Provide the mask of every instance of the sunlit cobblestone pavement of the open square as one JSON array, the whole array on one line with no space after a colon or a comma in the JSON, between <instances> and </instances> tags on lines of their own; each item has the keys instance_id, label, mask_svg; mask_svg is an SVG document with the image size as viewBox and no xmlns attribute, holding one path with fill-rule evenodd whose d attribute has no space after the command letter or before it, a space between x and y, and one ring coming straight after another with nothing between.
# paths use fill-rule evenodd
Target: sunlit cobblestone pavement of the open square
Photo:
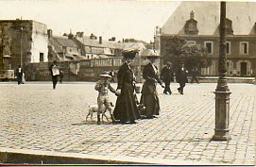
<instances>
[{"instance_id":1,"label":"sunlit cobblestone pavement of the open square","mask_svg":"<svg viewBox=\"0 0 256 167\"><path fill-rule=\"evenodd\" d=\"M96 125L96 114L85 122L88 106L96 104L94 83L60 84L56 90L50 82L0 83L0 147L255 165L256 85L229 84L230 142L210 141L215 87L187 84L184 95L177 92L177 83L171 84L172 95L159 87L159 118L136 125ZM111 101L115 99L111 93Z\"/></svg>"}]
</instances>

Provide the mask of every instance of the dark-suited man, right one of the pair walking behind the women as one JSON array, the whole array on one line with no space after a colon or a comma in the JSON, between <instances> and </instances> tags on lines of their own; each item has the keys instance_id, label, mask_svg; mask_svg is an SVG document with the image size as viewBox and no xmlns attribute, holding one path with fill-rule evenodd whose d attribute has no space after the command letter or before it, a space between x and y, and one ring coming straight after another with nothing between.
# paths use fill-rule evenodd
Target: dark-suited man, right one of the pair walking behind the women
<instances>
[{"instance_id":1,"label":"dark-suited man, right one of the pair walking behind the women","mask_svg":"<svg viewBox=\"0 0 256 167\"><path fill-rule=\"evenodd\" d=\"M184 63L179 62L179 69L176 73L176 81L179 83L179 88L177 89L180 94L183 94L183 89L186 86L186 83L188 83L188 78L187 78L187 73L186 69L184 68Z\"/></svg>"}]
</instances>

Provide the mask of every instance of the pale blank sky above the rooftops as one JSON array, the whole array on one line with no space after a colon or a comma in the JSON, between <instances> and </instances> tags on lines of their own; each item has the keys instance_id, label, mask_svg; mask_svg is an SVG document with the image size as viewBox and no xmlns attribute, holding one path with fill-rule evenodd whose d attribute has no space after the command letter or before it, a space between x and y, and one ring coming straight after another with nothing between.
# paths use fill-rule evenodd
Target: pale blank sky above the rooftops
<instances>
[{"instance_id":1,"label":"pale blank sky above the rooftops","mask_svg":"<svg viewBox=\"0 0 256 167\"><path fill-rule=\"evenodd\" d=\"M53 35L83 31L103 40L115 37L153 41L155 26L164 25L179 1L143 0L0 0L0 19L35 20Z\"/></svg>"}]
</instances>

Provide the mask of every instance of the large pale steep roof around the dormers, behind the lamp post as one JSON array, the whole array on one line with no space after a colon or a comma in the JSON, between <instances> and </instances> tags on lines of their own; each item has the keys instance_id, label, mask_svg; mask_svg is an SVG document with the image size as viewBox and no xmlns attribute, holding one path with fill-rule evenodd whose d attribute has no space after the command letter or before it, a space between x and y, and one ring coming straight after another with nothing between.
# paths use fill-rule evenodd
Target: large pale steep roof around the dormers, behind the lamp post
<instances>
[{"instance_id":1,"label":"large pale steep roof around the dormers, behind the lamp post","mask_svg":"<svg viewBox=\"0 0 256 167\"><path fill-rule=\"evenodd\" d=\"M184 25L190 19L190 12L194 11L197 21L198 35L218 36L220 21L220 2L216 1L187 1L181 2L171 17L162 26L162 35L184 35ZM226 16L232 22L233 35L256 35L255 2L227 2Z\"/></svg>"}]
</instances>

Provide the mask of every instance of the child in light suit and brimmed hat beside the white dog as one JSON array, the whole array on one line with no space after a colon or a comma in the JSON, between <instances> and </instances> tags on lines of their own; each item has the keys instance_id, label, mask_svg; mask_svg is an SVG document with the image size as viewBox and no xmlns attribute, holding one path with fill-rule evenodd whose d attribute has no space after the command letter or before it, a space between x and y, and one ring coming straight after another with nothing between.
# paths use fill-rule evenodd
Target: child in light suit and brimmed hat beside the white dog
<instances>
[{"instance_id":1,"label":"child in light suit and brimmed hat beside the white dog","mask_svg":"<svg viewBox=\"0 0 256 167\"><path fill-rule=\"evenodd\" d=\"M103 105L110 110L111 113L111 120L112 124L116 123L116 120L113 117L112 109L111 109L111 102L109 99L108 92L109 90L113 93L115 93L115 90L111 87L110 84L110 78L111 75L109 75L108 72L103 72L101 75L99 75L100 80L96 82L95 90L98 91L98 97L97 97L97 105L98 105L98 111L97 111L97 125L100 125L100 113L103 111Z\"/></svg>"}]
</instances>

